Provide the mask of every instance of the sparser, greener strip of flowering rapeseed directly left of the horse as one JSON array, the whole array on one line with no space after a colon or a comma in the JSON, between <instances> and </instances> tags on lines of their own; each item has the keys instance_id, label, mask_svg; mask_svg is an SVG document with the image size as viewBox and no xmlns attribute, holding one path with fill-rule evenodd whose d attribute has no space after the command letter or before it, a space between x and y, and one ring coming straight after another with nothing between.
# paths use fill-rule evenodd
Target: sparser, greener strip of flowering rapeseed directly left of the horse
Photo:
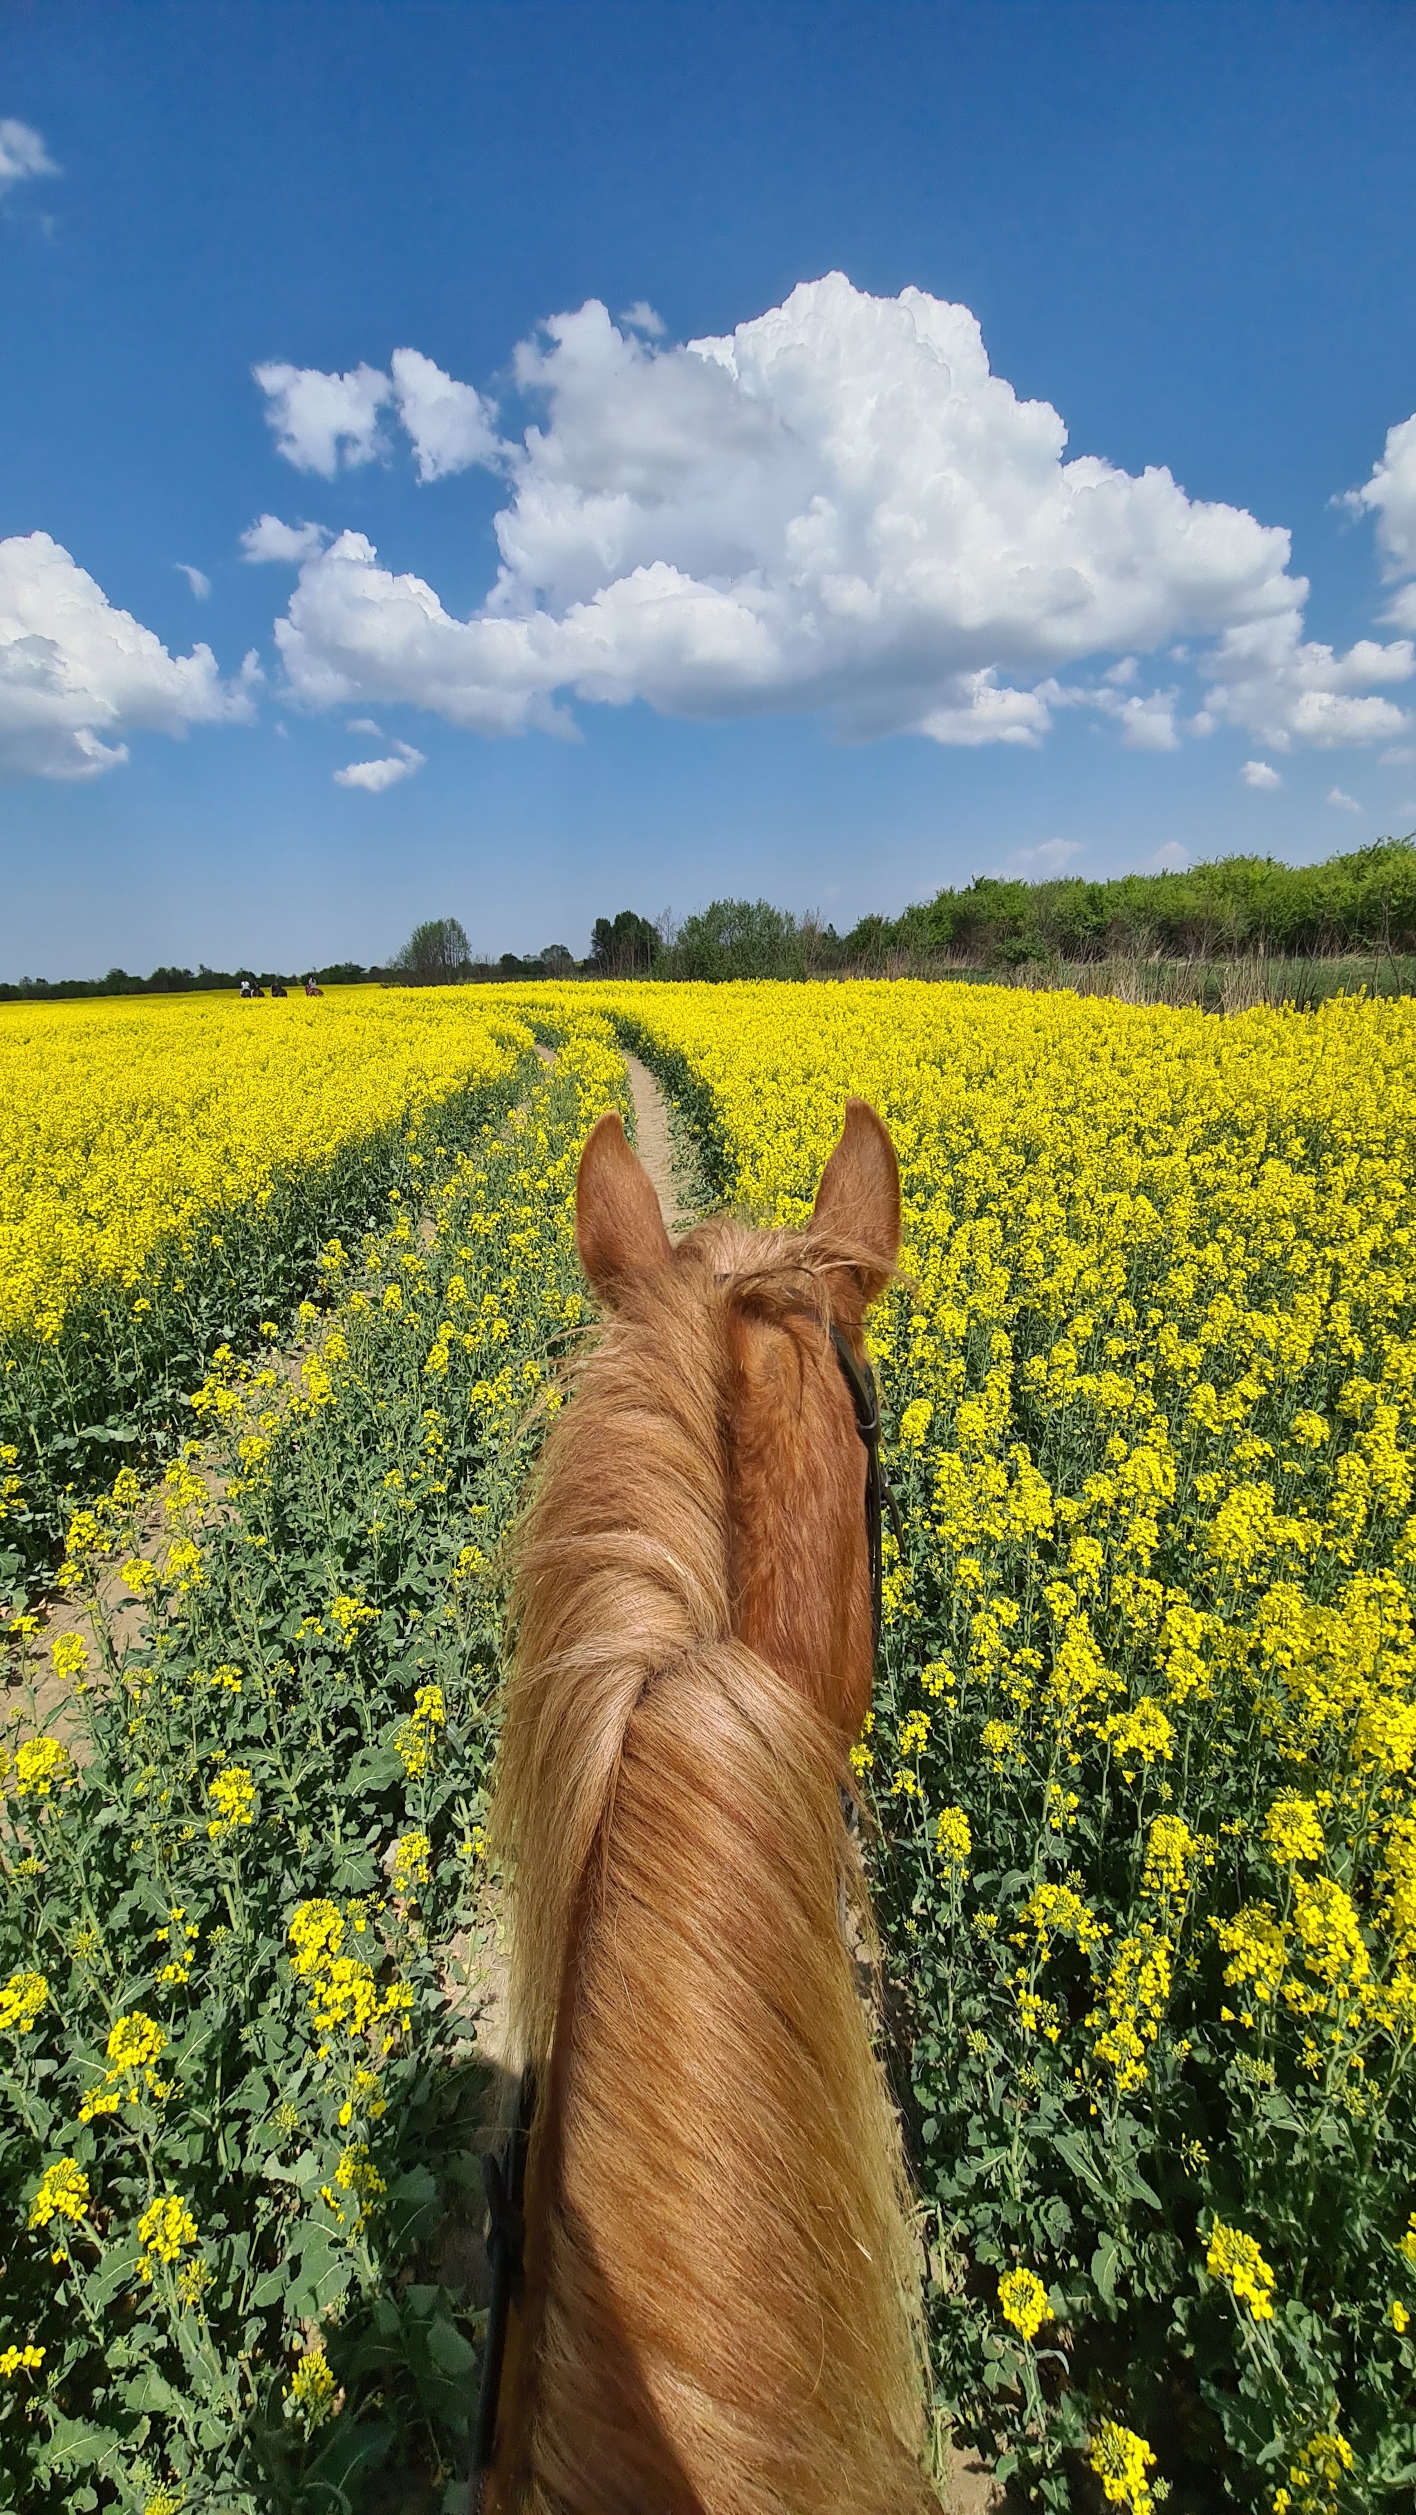
<instances>
[{"instance_id":1,"label":"sparser, greener strip of flowering rapeseed directly left of the horse","mask_svg":"<svg viewBox=\"0 0 1416 2515\"><path fill-rule=\"evenodd\" d=\"M581 1019L337 1252L299 1368L214 1361L156 1562L128 1469L68 1517L86 1685L0 1755L3 2505L465 2495L501 1539L621 1097Z\"/></svg>"}]
</instances>

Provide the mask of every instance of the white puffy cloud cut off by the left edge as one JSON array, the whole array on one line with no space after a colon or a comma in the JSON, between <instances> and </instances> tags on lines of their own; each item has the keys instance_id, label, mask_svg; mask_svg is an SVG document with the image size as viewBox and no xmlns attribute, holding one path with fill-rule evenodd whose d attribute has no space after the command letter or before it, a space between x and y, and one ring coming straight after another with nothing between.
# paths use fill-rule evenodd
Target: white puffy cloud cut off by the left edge
<instances>
[{"instance_id":1,"label":"white puffy cloud cut off by the left edge","mask_svg":"<svg viewBox=\"0 0 1416 2515\"><path fill-rule=\"evenodd\" d=\"M126 734L252 717L259 664L224 682L211 646L169 654L48 533L0 541L0 775L101 777Z\"/></svg>"}]
</instances>

